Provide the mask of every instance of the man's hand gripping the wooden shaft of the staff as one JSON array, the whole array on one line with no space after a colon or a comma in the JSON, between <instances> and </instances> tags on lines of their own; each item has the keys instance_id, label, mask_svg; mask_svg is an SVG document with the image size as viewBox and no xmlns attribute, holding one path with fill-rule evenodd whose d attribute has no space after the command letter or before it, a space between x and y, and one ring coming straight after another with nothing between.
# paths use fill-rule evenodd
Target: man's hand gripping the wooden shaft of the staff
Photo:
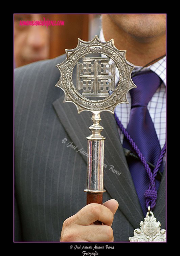
<instances>
[{"instance_id":1,"label":"man's hand gripping the wooden shaft of the staff","mask_svg":"<svg viewBox=\"0 0 180 256\"><path fill-rule=\"evenodd\" d=\"M115 199L86 205L64 221L60 242L113 242L111 225L118 206ZM96 220L103 224L94 225Z\"/></svg>"}]
</instances>

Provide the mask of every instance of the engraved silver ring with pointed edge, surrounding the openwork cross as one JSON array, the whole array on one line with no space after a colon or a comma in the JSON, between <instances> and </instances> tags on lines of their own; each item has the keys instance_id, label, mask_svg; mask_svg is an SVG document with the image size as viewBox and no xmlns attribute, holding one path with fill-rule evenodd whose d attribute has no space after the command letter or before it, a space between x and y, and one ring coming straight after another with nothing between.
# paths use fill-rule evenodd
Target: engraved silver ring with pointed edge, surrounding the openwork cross
<instances>
[{"instance_id":1,"label":"engraved silver ring with pointed edge, surrounding the openwork cross","mask_svg":"<svg viewBox=\"0 0 180 256\"><path fill-rule=\"evenodd\" d=\"M128 64L126 60L126 51L120 51L114 46L114 40L111 39L108 42L102 42L97 36L91 41L86 42L78 39L76 48L72 50L65 50L66 59L56 65L61 73L60 80L55 86L60 87L64 93L63 102L73 102L78 114L82 111L109 111L114 114L115 107L120 103L129 103L127 100L127 92L136 85L131 79L131 73L134 66ZM75 88L72 81L73 68L84 56L90 53L104 54L112 59L119 71L119 83L115 91L107 98L103 100L90 100L83 97Z\"/></svg>"}]
</instances>

